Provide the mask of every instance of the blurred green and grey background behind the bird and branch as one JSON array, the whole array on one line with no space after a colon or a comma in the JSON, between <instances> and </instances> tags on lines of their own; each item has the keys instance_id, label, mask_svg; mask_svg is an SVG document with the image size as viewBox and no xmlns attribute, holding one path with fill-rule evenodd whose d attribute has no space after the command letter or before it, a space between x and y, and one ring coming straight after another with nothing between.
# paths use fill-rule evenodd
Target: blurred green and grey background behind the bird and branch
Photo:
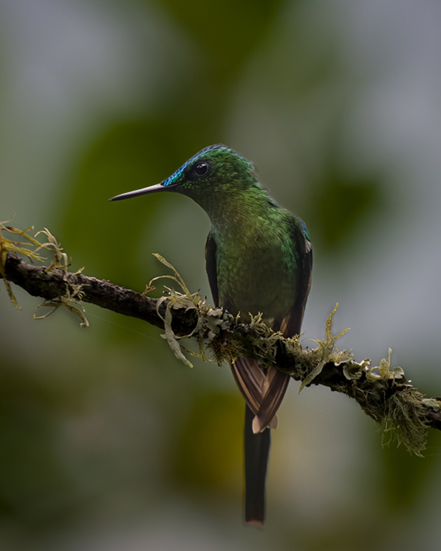
<instances>
[{"instance_id":1,"label":"blurred green and grey background behind the bird and branch","mask_svg":"<svg viewBox=\"0 0 441 551\"><path fill-rule=\"evenodd\" d=\"M441 4L423 0L1 0L0 219L47 226L72 269L209 295L203 211L163 180L226 143L308 224L305 338L439 395ZM3 287L3 285L2 285ZM241 524L243 403L228 368L87 306L35 322L0 294L3 550L413 550L439 542L441 438L424 459L355 403L292 383L267 525Z\"/></svg>"}]
</instances>

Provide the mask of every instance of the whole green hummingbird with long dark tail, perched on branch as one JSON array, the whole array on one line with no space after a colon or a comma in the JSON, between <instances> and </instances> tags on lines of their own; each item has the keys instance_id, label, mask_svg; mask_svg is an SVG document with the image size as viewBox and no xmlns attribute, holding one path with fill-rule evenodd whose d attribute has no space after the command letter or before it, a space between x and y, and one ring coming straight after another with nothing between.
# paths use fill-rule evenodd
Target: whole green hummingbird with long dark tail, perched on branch
<instances>
[{"instance_id":1,"label":"whole green hummingbird with long dark tail, perched on branch","mask_svg":"<svg viewBox=\"0 0 441 551\"><path fill-rule=\"evenodd\" d=\"M190 197L211 220L205 258L214 305L244 322L261 313L284 337L300 334L311 284L311 240L303 220L263 187L255 165L225 145L210 145L166 180L109 201L162 191ZM270 431L277 428L290 377L245 356L231 369L245 398L245 522L263 526Z\"/></svg>"}]
</instances>

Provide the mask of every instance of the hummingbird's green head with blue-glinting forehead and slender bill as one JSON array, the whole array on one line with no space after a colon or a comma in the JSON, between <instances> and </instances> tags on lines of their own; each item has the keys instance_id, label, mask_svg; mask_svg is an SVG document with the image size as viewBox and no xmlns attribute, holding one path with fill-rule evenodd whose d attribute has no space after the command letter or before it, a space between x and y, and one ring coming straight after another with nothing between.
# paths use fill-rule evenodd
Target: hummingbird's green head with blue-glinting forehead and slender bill
<instances>
[{"instance_id":1,"label":"hummingbird's green head with blue-glinting forehead and slender bill","mask_svg":"<svg viewBox=\"0 0 441 551\"><path fill-rule=\"evenodd\" d=\"M166 180L154 186L122 193L109 201L120 201L159 191L174 191L191 197L207 210L208 203L260 188L254 164L226 145L210 145L193 155Z\"/></svg>"}]
</instances>

